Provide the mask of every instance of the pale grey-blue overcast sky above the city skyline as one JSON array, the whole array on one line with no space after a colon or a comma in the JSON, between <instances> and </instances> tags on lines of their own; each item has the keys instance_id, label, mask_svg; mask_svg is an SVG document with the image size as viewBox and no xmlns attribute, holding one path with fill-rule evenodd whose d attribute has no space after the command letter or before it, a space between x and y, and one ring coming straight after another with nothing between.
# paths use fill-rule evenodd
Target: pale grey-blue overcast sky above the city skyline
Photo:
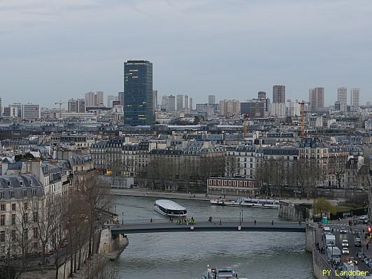
<instances>
[{"instance_id":1,"label":"pale grey-blue overcast sky above the city skyline","mask_svg":"<svg viewBox=\"0 0 372 279\"><path fill-rule=\"evenodd\" d=\"M272 98L273 84L305 100L324 86L326 105L360 88L365 103L371 15L371 0L0 0L0 97L55 107L101 90L106 103L123 61L146 59L159 96L194 104Z\"/></svg>"}]
</instances>

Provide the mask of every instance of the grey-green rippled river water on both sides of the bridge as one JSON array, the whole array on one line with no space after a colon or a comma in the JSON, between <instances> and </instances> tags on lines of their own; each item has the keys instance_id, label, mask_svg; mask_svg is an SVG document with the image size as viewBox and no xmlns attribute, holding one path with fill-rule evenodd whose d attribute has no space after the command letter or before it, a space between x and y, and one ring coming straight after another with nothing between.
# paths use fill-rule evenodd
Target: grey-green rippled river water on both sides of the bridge
<instances>
[{"instance_id":1,"label":"grey-green rippled river water on both sides of the bridge","mask_svg":"<svg viewBox=\"0 0 372 279\"><path fill-rule=\"evenodd\" d=\"M162 218L152 210L155 198L115 197L121 220ZM172 199L191 217L239 217L240 208ZM115 209L114 209L115 210ZM124 213L124 214L123 214ZM277 218L275 209L243 209L244 217ZM231 267L243 278L313 279L305 234L266 232L179 232L129 234L129 246L111 262L121 279L200 279L207 265Z\"/></svg>"}]
</instances>

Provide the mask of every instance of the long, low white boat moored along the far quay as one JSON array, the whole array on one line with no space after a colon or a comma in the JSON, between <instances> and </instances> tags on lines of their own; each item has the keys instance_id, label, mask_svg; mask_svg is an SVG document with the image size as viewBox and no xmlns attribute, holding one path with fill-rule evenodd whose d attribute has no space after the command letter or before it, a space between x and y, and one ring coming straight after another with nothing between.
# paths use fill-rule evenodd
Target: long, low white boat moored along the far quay
<instances>
[{"instance_id":1,"label":"long, low white boat moored along the far quay","mask_svg":"<svg viewBox=\"0 0 372 279\"><path fill-rule=\"evenodd\" d=\"M223 206L259 207L262 209L279 209L279 201L276 199L255 199L250 197L238 197L236 199L210 199L210 204Z\"/></svg>"}]
</instances>

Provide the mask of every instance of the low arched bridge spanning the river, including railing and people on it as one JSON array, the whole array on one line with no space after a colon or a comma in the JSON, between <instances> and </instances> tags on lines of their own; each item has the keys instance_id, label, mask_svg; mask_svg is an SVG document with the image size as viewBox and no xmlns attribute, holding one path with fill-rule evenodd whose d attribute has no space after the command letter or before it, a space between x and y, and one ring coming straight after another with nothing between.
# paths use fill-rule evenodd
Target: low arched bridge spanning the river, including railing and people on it
<instances>
[{"instance_id":1,"label":"low arched bridge spanning the river, including railing and people on it","mask_svg":"<svg viewBox=\"0 0 372 279\"><path fill-rule=\"evenodd\" d=\"M306 232L306 223L272 218L193 218L188 222L173 219L121 220L110 225L111 234L152 232Z\"/></svg>"}]
</instances>

